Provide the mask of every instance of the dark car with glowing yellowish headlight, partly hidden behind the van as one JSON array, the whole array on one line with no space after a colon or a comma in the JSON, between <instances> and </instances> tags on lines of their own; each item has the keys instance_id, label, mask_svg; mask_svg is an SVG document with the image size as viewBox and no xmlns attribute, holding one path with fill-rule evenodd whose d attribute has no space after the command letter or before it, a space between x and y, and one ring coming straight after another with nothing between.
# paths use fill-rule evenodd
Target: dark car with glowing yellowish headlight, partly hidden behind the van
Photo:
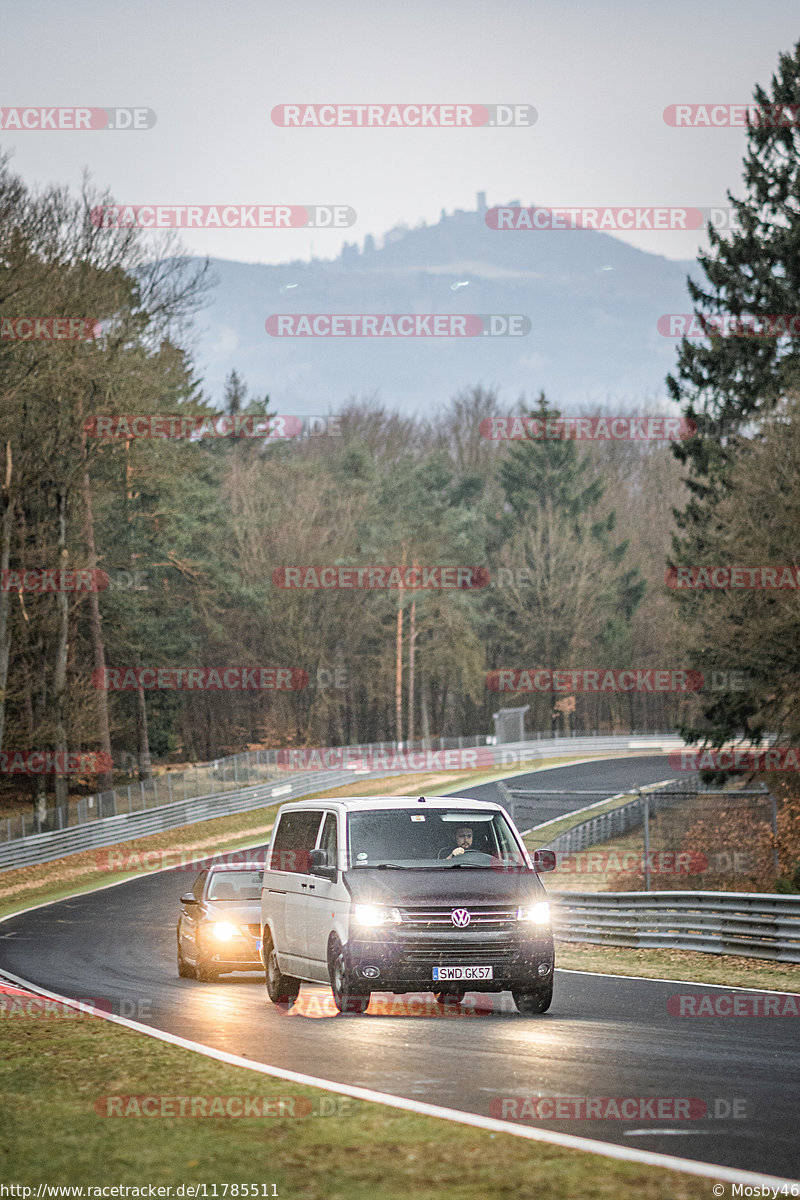
<instances>
[{"instance_id":1,"label":"dark car with glowing yellowish headlight, partly hidden behind the van","mask_svg":"<svg viewBox=\"0 0 800 1200\"><path fill-rule=\"evenodd\" d=\"M178 973L213 983L231 971L264 971L259 958L260 866L212 865L181 896Z\"/></svg>"}]
</instances>

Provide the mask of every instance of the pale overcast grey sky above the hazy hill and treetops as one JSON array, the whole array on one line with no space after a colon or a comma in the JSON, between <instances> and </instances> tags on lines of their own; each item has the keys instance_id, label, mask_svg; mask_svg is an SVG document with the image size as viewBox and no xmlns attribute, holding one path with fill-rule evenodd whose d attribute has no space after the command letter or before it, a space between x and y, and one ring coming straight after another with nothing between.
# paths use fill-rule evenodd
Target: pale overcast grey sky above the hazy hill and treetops
<instances>
[{"instance_id":1,"label":"pale overcast grey sky above the hazy hill and treetops","mask_svg":"<svg viewBox=\"0 0 800 1200\"><path fill-rule=\"evenodd\" d=\"M738 103L800 37L796 0L25 0L1 6L2 106L139 106L139 132L0 133L29 184L84 167L132 204L348 204L349 230L192 230L242 262L519 199L724 204L745 131L674 128L672 103ZM276 104L528 103L529 128L281 128ZM619 234L691 258L702 232Z\"/></svg>"}]
</instances>

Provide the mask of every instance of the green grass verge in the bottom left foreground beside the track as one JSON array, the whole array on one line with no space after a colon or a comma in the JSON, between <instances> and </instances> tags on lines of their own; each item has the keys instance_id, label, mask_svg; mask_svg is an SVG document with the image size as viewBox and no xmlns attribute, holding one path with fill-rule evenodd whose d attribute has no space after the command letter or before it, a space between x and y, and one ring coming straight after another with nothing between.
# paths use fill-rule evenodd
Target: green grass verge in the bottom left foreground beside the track
<instances>
[{"instance_id":1,"label":"green grass verge in the bottom left foreground beside the track","mask_svg":"<svg viewBox=\"0 0 800 1200\"><path fill-rule=\"evenodd\" d=\"M281 1200L710 1194L704 1178L345 1100L94 1018L7 1018L0 1060L2 1174L26 1186L275 1183ZM104 1117L95 1103L108 1096L258 1096L273 1111L300 1097L312 1115ZM337 1115L314 1115L323 1098Z\"/></svg>"}]
</instances>

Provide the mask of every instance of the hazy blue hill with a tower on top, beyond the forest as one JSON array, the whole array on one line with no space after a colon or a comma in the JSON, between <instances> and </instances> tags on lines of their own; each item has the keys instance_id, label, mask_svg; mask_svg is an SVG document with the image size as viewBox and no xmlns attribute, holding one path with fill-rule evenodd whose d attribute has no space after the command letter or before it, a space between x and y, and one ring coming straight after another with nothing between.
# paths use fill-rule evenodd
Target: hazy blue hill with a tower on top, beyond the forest
<instances>
[{"instance_id":1,"label":"hazy blue hill with a tower on top, beyond the forest","mask_svg":"<svg viewBox=\"0 0 800 1200\"><path fill-rule=\"evenodd\" d=\"M383 246L367 239L335 260L213 268L213 302L197 322L206 390L218 398L236 367L273 408L299 414L373 394L423 410L476 383L509 403L540 388L566 408L654 402L676 348L656 322L691 311L686 275L698 270L591 230L495 232L479 210L443 211L435 226L392 229ZM533 328L477 338L278 338L264 328L273 313L336 312L524 313Z\"/></svg>"}]
</instances>

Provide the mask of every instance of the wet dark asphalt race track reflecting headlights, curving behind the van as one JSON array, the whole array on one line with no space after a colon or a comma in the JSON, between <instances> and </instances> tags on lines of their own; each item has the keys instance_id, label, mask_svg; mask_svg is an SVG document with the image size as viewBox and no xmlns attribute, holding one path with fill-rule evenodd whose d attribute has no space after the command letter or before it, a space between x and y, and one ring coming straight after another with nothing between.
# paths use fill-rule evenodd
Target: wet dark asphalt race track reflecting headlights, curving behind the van
<instances>
[{"instance_id":1,"label":"wet dark asphalt race track reflecting headlights, curving behind the van","mask_svg":"<svg viewBox=\"0 0 800 1200\"><path fill-rule=\"evenodd\" d=\"M669 775L667 758L652 756L563 767L518 776L513 786L601 787L610 796ZM499 799L494 785L467 793ZM572 806L591 802L576 798ZM521 828L535 823L521 808L517 817ZM640 1150L800 1175L796 1018L676 1016L670 996L718 990L564 971L553 1007L537 1018L519 1016L505 994L476 997L463 1016L427 1015L432 997L392 1015L403 997L390 995L373 997L363 1016L330 1015L330 991L311 986L287 1015L269 1003L260 977L178 978L178 898L192 878L186 871L138 877L11 918L0 925L0 970L62 995L110 1001L114 1013L144 1025L289 1070L485 1116L518 1115L523 1123ZM679 1106L661 1120L645 1110L636 1120L539 1121L503 1110L507 1097L697 1098L706 1115L694 1116L702 1105L693 1105L690 1118Z\"/></svg>"}]
</instances>

